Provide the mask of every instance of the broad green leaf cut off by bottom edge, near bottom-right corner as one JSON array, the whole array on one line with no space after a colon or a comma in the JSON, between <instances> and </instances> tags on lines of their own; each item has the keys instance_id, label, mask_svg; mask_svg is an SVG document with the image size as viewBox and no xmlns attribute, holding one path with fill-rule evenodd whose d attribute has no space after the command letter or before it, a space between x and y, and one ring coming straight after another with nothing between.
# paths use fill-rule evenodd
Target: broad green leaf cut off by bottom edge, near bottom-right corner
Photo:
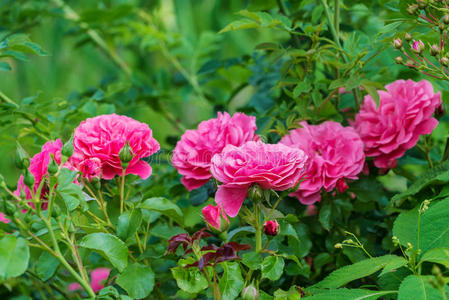
<instances>
[{"instance_id":1,"label":"broad green leaf cut off by bottom edge, near bottom-right corner","mask_svg":"<svg viewBox=\"0 0 449 300\"><path fill-rule=\"evenodd\" d=\"M433 276L410 275L399 286L398 300L442 299L441 291L432 287L429 279ZM446 295L448 295L446 291Z\"/></svg>"}]
</instances>

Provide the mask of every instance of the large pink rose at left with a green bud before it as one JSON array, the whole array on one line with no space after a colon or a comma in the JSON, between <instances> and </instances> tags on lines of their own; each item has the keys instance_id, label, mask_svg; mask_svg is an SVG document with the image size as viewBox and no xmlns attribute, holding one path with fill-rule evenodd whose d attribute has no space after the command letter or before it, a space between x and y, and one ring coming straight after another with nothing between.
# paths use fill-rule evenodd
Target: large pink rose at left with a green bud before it
<instances>
[{"instance_id":1,"label":"large pink rose at left with a green bud before it","mask_svg":"<svg viewBox=\"0 0 449 300\"><path fill-rule=\"evenodd\" d=\"M151 167L141 159L156 153L159 150L159 143L153 138L147 124L116 114L101 115L81 122L75 129L73 138L72 164L84 170L88 165L88 174L83 175L88 177L93 172L96 176L97 160L100 160L103 179L121 176L119 152L126 142L129 142L135 155L126 168L126 174L139 175L142 179L148 178L151 175ZM83 164L83 167L80 168L80 164ZM92 171L91 167L95 170Z\"/></svg>"}]
</instances>

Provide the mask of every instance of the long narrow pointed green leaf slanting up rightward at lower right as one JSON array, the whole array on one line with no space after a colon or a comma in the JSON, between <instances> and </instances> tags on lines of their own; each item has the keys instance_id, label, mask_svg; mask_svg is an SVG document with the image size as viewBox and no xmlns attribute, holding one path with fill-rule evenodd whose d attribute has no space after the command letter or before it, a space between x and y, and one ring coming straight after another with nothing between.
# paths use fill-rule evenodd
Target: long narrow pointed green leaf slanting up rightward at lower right
<instances>
[{"instance_id":1,"label":"long narrow pointed green leaf slanting up rightward at lower right","mask_svg":"<svg viewBox=\"0 0 449 300\"><path fill-rule=\"evenodd\" d=\"M389 264L398 265L404 258L396 255L385 255L375 258L365 259L355 264L344 266L331 274L322 281L315 284L316 288L338 288L353 280L360 279L383 269Z\"/></svg>"}]
</instances>

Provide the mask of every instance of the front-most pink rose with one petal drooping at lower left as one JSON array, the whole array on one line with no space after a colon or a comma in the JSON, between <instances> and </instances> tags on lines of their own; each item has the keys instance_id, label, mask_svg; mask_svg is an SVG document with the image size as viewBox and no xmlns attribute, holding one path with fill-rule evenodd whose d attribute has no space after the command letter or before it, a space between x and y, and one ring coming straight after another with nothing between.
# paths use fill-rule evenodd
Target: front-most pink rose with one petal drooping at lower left
<instances>
[{"instance_id":1,"label":"front-most pink rose with one petal drooping at lower left","mask_svg":"<svg viewBox=\"0 0 449 300\"><path fill-rule=\"evenodd\" d=\"M223 183L215 201L227 215L235 217L252 184L277 191L293 188L304 173L306 161L304 151L282 144L251 141L240 147L227 145L212 158L212 175Z\"/></svg>"}]
</instances>

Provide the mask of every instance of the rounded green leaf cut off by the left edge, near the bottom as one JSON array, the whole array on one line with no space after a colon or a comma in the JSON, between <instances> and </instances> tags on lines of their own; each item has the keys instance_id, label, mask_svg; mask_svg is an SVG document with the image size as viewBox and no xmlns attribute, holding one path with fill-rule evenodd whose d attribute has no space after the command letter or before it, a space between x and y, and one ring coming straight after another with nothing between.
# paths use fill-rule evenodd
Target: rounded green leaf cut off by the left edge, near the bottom
<instances>
[{"instance_id":1,"label":"rounded green leaf cut off by the left edge, near the bottom","mask_svg":"<svg viewBox=\"0 0 449 300\"><path fill-rule=\"evenodd\" d=\"M0 239L0 279L22 275L28 268L30 249L25 239L7 235Z\"/></svg>"}]
</instances>

